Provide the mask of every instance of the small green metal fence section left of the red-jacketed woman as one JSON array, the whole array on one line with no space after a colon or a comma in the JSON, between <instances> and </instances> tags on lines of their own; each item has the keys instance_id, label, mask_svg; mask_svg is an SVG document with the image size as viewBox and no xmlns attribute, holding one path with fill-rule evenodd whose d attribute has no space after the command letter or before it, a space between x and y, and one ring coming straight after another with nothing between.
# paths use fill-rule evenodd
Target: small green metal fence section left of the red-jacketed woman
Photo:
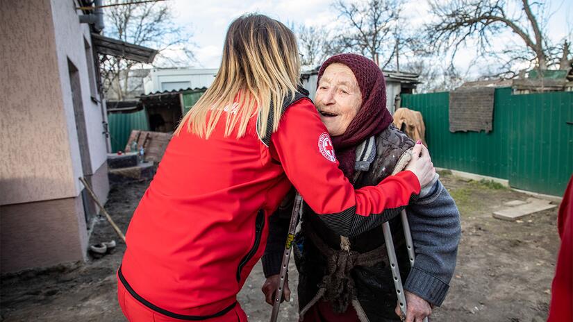
<instances>
[{"instance_id":1,"label":"small green metal fence section left of the red-jacketed woman","mask_svg":"<svg viewBox=\"0 0 573 322\"><path fill-rule=\"evenodd\" d=\"M145 109L133 113L108 114L112 152L124 151L131 130L149 130Z\"/></svg>"}]
</instances>

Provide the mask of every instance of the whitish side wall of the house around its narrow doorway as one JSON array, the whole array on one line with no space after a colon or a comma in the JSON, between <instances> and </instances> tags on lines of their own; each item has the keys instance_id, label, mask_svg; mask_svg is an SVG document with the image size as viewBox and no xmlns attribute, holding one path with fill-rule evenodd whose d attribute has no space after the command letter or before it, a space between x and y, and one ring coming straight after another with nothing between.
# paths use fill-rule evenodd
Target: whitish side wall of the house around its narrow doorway
<instances>
[{"instance_id":1,"label":"whitish side wall of the house around its narrow doorway","mask_svg":"<svg viewBox=\"0 0 573 322\"><path fill-rule=\"evenodd\" d=\"M94 103L90 97L90 74L88 62L85 56L84 37L91 42L88 24L79 23L80 10L76 1L51 0L53 26L56 34L56 55L58 57L58 71L62 83L63 105L66 116L69 146L74 173L74 185L76 195L81 191L81 183L77 180L83 176L81 158L78 146L78 133L76 131L76 119L74 105L72 103L72 89L69 85L69 59L78 69L80 76L81 95L85 126L88 135L90 162L92 169L86 169L88 174L94 173L106 162L106 137L103 135L103 115L101 104Z\"/></svg>"}]
</instances>

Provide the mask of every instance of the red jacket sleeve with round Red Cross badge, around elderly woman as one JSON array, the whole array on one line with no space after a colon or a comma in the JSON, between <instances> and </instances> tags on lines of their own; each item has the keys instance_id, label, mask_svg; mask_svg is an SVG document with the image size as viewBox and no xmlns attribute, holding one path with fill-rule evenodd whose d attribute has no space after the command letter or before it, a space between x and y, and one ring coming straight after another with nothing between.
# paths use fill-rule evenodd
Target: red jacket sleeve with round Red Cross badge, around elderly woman
<instances>
[{"instance_id":1,"label":"red jacket sleeve with round Red Cross badge, around elderly woman","mask_svg":"<svg viewBox=\"0 0 573 322\"><path fill-rule=\"evenodd\" d=\"M420 182L410 171L354 190L338 169L331 138L315 106L306 99L286 110L271 142L290 182L340 235L354 236L379 226L420 193Z\"/></svg>"}]
</instances>

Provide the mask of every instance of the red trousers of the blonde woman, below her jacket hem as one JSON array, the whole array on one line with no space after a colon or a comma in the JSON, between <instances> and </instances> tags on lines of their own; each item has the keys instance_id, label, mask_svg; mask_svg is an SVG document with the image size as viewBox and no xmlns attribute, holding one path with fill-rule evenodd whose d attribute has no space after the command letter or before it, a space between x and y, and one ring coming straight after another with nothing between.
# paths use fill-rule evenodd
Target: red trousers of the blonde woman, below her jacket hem
<instances>
[{"instance_id":1,"label":"red trousers of the blonde woman, below her jacket hem","mask_svg":"<svg viewBox=\"0 0 573 322\"><path fill-rule=\"evenodd\" d=\"M122 307L124 316L130 322L181 322L183 320L174 319L159 312L151 310L149 307L140 303L129 294L122 282L117 281L117 300ZM247 322L247 314L241 309L239 303L233 310L223 316L217 316L213 319L204 320L205 322Z\"/></svg>"}]
</instances>

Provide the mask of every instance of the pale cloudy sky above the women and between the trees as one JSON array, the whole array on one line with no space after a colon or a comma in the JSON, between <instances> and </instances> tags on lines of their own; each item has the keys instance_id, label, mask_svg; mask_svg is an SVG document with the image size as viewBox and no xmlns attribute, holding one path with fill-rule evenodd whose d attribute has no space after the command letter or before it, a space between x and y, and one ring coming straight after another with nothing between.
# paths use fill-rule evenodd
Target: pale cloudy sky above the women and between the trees
<instances>
[{"instance_id":1,"label":"pale cloudy sky above the women and between the trees","mask_svg":"<svg viewBox=\"0 0 573 322\"><path fill-rule=\"evenodd\" d=\"M192 48L197 60L194 67L219 67L224 35L233 19L247 13L259 12L290 26L291 24L306 24L307 26L333 27L337 24L338 12L331 6L333 0L290 0L290 1L259 1L259 0L168 0L174 9L175 22L193 33ZM511 1L511 0L509 0ZM572 31L573 1L547 1L547 11L550 14L547 31L554 40L560 40ZM408 24L413 28L421 28L424 20L428 19L429 5L426 1L406 1L404 14ZM506 33L495 40L495 44L504 44L516 39ZM516 39L517 40L517 39ZM517 40L519 41L519 40ZM454 60L454 65L476 74L482 66L476 65L473 58L475 49L462 49ZM486 62L481 62L485 64Z\"/></svg>"}]
</instances>

